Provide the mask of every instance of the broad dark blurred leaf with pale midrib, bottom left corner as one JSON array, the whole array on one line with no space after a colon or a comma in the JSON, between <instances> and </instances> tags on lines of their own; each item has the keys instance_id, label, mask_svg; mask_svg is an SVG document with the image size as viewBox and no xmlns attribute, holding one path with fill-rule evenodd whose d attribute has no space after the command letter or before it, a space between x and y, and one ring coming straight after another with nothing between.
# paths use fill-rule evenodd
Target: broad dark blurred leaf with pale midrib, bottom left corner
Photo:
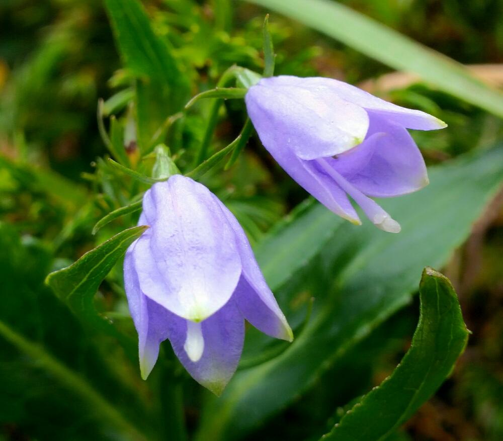
<instances>
[{"instance_id":1,"label":"broad dark blurred leaf with pale midrib, bottom left corner","mask_svg":"<svg viewBox=\"0 0 503 441\"><path fill-rule=\"evenodd\" d=\"M136 342L130 365L116 339L80 326L44 286L54 261L42 241L0 222L0 249L0 378L8 380L0 381L0 425L30 427L37 439L75 441L153 433L155 418L138 395L144 385L133 387L121 373L137 377Z\"/></svg>"}]
</instances>

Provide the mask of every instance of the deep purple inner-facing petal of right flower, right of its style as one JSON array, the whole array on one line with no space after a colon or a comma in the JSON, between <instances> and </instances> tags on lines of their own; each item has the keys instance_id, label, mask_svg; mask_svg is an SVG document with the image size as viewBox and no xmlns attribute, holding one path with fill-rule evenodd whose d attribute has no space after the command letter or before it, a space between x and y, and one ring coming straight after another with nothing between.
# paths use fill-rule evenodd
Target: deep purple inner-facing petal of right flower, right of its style
<instances>
[{"instance_id":1,"label":"deep purple inner-facing petal of right flower, right of its style","mask_svg":"<svg viewBox=\"0 0 503 441\"><path fill-rule=\"evenodd\" d=\"M428 184L425 161L407 130L377 116L362 144L326 160L368 196L399 196Z\"/></svg>"}]
</instances>

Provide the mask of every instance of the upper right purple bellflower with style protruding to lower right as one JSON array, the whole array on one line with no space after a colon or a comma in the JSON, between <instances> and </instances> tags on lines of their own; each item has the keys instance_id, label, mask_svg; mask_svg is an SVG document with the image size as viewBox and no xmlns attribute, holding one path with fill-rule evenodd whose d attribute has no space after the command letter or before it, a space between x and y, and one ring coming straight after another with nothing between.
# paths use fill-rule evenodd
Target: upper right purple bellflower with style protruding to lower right
<instances>
[{"instance_id":1,"label":"upper right purple bellflower with style protruding to lower right","mask_svg":"<svg viewBox=\"0 0 503 441\"><path fill-rule=\"evenodd\" d=\"M245 102L262 143L299 185L359 225L350 196L377 227L393 233L400 225L370 197L426 186L425 162L407 129L446 127L331 78L263 78Z\"/></svg>"}]
</instances>

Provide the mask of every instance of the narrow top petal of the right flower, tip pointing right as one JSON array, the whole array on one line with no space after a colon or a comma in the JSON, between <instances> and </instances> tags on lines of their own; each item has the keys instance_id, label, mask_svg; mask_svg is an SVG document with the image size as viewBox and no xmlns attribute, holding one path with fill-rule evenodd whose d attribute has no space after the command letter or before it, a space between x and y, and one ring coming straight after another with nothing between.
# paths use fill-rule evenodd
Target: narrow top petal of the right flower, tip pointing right
<instances>
[{"instance_id":1,"label":"narrow top petal of the right flower, tip pointing right","mask_svg":"<svg viewBox=\"0 0 503 441\"><path fill-rule=\"evenodd\" d=\"M408 129L436 130L447 125L434 116L420 110L407 109L381 100L358 87L333 78L296 76L278 76L276 84L290 87L305 87L306 89L330 90L340 99L356 104L368 111L378 113L389 121L400 124ZM321 155L320 155L321 156Z\"/></svg>"}]
</instances>

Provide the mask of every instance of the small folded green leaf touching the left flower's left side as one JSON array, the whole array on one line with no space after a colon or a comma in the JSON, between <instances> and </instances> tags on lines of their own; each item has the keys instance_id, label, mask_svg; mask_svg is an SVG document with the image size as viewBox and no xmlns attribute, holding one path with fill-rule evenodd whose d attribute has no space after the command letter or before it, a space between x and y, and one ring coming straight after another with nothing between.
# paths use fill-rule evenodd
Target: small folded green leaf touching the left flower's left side
<instances>
[{"instance_id":1,"label":"small folded green leaf touching the left flower's left side","mask_svg":"<svg viewBox=\"0 0 503 441\"><path fill-rule=\"evenodd\" d=\"M101 282L128 246L147 228L133 227L116 234L69 267L49 274L45 283L77 316L96 321L93 298Z\"/></svg>"}]
</instances>

